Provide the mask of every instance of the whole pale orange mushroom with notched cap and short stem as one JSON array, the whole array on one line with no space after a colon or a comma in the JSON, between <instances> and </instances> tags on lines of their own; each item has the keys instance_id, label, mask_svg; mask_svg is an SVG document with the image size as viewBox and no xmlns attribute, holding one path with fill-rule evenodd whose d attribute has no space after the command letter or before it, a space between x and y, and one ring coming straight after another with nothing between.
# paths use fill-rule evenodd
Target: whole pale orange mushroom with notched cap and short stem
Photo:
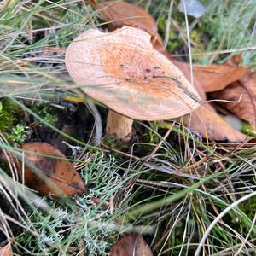
<instances>
[{"instance_id":1,"label":"whole pale orange mushroom with notched cap and short stem","mask_svg":"<svg viewBox=\"0 0 256 256\"><path fill-rule=\"evenodd\" d=\"M84 93L107 105L108 135L128 141L132 120L180 117L200 105L183 73L153 49L150 35L131 26L89 29L69 44L68 73Z\"/></svg>"}]
</instances>

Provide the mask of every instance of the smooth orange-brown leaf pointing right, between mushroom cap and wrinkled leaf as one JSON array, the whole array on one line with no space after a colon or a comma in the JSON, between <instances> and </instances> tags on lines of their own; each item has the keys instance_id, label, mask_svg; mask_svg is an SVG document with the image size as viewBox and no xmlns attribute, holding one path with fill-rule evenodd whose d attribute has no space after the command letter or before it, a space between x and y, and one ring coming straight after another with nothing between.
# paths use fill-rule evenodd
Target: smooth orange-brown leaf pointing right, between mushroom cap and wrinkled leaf
<instances>
[{"instance_id":1,"label":"smooth orange-brown leaf pointing right, between mushroom cap and wrinkled leaf","mask_svg":"<svg viewBox=\"0 0 256 256\"><path fill-rule=\"evenodd\" d=\"M245 67L232 67L230 62L223 65L194 65L194 77L200 80L205 92L223 90L230 83L241 79L247 72Z\"/></svg>"}]
</instances>

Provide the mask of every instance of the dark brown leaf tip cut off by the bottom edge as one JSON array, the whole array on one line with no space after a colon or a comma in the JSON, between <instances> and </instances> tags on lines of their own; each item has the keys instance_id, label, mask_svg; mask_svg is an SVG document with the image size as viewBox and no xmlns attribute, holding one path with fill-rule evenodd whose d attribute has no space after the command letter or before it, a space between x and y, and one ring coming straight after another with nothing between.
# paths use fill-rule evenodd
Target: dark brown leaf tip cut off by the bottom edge
<instances>
[{"instance_id":1,"label":"dark brown leaf tip cut off by the bottom edge","mask_svg":"<svg viewBox=\"0 0 256 256\"><path fill-rule=\"evenodd\" d=\"M121 237L111 247L109 256L153 256L153 253L141 235Z\"/></svg>"}]
</instances>

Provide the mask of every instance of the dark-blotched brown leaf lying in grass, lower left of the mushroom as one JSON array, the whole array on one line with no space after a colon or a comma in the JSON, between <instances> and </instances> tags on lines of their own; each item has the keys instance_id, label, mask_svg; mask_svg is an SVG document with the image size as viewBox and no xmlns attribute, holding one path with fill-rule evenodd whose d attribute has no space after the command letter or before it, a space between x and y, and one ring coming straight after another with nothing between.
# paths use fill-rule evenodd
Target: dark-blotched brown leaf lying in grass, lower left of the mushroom
<instances>
[{"instance_id":1,"label":"dark-blotched brown leaf lying in grass, lower left of the mushroom","mask_svg":"<svg viewBox=\"0 0 256 256\"><path fill-rule=\"evenodd\" d=\"M74 195L84 193L84 183L73 165L66 160L44 157L38 154L47 154L58 158L65 158L64 154L48 143L26 143L23 150L36 154L24 154L24 176L28 187L37 190L43 195ZM2 160L7 164L2 156ZM20 177L22 177L22 163L18 162ZM41 174L38 173L41 171Z\"/></svg>"}]
</instances>

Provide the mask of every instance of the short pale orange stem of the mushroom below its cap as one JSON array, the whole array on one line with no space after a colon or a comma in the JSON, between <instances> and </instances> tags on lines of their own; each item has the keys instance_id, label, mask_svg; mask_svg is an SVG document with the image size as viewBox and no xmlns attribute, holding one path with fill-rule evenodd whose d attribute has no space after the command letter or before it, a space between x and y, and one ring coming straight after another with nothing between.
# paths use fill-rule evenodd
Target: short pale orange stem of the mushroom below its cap
<instances>
[{"instance_id":1,"label":"short pale orange stem of the mushroom below its cap","mask_svg":"<svg viewBox=\"0 0 256 256\"><path fill-rule=\"evenodd\" d=\"M131 139L133 120L113 110L108 111L107 134L118 137L120 142Z\"/></svg>"}]
</instances>

